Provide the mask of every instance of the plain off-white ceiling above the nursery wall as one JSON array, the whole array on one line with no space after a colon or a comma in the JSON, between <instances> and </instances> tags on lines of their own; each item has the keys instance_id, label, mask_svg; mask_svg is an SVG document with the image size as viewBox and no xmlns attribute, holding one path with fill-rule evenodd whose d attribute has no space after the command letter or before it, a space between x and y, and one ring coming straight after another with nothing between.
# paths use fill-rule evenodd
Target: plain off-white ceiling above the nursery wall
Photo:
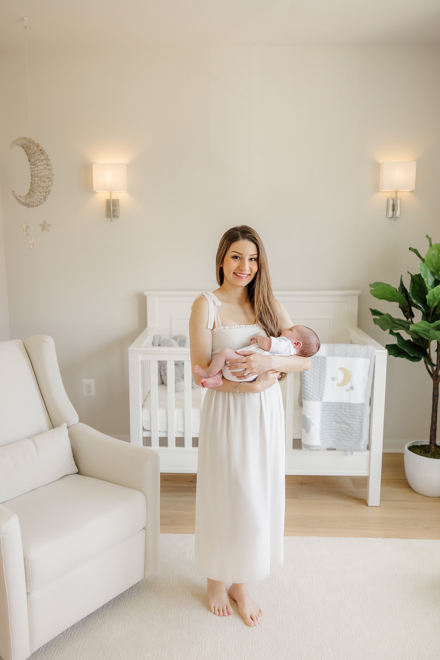
<instances>
[{"instance_id":1,"label":"plain off-white ceiling above the nursery wall","mask_svg":"<svg viewBox=\"0 0 440 660\"><path fill-rule=\"evenodd\" d=\"M26 7L26 10L24 10ZM0 0L0 48L437 44L440 0Z\"/></svg>"}]
</instances>

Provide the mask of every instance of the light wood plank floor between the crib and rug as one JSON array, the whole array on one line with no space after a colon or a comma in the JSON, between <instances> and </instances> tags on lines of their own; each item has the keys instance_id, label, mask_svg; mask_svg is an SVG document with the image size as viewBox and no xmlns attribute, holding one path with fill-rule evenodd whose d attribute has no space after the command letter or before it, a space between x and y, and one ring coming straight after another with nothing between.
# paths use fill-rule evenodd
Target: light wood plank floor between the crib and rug
<instances>
[{"instance_id":1,"label":"light wood plank floor between the crib and rug","mask_svg":"<svg viewBox=\"0 0 440 660\"><path fill-rule=\"evenodd\" d=\"M367 477L286 476L286 536L440 539L440 498L410 488L402 453L384 453L380 506ZM162 474L160 531L193 534L196 475Z\"/></svg>"}]
</instances>

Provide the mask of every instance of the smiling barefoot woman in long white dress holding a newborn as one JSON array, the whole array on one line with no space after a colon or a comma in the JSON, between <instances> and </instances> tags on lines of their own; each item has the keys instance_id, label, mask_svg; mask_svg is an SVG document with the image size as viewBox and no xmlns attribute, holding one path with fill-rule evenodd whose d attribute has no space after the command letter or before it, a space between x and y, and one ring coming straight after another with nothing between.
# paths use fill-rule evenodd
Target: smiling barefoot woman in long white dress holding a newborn
<instances>
[{"instance_id":1,"label":"smiling barefoot woman in long white dress holding a newborn","mask_svg":"<svg viewBox=\"0 0 440 660\"><path fill-rule=\"evenodd\" d=\"M206 368L221 348L249 345L258 331L278 337L293 325L274 298L266 251L251 227L233 227L222 236L216 277L219 288L193 303L193 367ZM195 564L208 579L213 614L232 614L230 597L245 623L258 626L263 611L251 599L247 582L266 578L271 562L284 563L284 408L278 378L308 370L310 358L245 351L228 368L239 379L258 376L238 385L222 378L222 385L206 391L197 460ZM197 374L194 380L199 385ZM228 591L226 582L232 582Z\"/></svg>"}]
</instances>

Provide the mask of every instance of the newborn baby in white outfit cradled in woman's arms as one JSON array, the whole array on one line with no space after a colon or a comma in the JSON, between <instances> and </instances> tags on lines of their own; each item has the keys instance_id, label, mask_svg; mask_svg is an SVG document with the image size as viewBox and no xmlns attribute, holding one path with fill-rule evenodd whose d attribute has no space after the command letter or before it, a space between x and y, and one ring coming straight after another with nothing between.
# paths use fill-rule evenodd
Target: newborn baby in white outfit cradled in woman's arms
<instances>
[{"instance_id":1,"label":"newborn baby in white outfit cradled in woman's arms","mask_svg":"<svg viewBox=\"0 0 440 660\"><path fill-rule=\"evenodd\" d=\"M262 333L252 335L249 346L239 348L238 350L250 350L263 355L301 355L306 358L315 355L319 350L320 343L318 335L305 325L292 325L291 328L285 328L280 337L266 337ZM201 376L201 387L218 387L222 384L222 374L228 380L234 380L239 383L247 383L255 380L257 374L249 378L239 378L232 374L224 365L226 360L235 360L243 356L232 348L222 348L207 369L202 369L195 364L193 372ZM236 365L236 371L239 371L239 365Z\"/></svg>"}]
</instances>

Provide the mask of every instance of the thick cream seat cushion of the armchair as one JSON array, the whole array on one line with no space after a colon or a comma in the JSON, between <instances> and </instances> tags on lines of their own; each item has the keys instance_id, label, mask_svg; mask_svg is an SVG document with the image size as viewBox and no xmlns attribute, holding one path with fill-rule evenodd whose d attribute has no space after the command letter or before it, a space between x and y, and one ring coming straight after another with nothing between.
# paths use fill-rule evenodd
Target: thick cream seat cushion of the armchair
<instances>
[{"instance_id":1,"label":"thick cream seat cushion of the armchair","mask_svg":"<svg viewBox=\"0 0 440 660\"><path fill-rule=\"evenodd\" d=\"M20 521L28 593L146 524L141 491L78 474L30 490L5 506Z\"/></svg>"}]
</instances>

